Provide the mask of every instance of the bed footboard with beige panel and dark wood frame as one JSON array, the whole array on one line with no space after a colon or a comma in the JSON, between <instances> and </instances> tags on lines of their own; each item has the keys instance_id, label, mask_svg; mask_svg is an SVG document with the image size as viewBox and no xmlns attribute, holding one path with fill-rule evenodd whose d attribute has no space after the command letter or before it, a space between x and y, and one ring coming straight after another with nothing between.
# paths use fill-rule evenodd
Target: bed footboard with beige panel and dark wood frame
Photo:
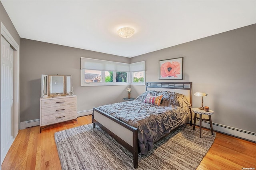
<instances>
[{"instance_id":1,"label":"bed footboard with beige panel and dark wood frame","mask_svg":"<svg viewBox=\"0 0 256 170\"><path fill-rule=\"evenodd\" d=\"M97 124L102 130L108 133L119 144L124 146L133 154L133 166L138 168L138 129L126 124L113 116L93 108L93 128Z\"/></svg>"}]
</instances>

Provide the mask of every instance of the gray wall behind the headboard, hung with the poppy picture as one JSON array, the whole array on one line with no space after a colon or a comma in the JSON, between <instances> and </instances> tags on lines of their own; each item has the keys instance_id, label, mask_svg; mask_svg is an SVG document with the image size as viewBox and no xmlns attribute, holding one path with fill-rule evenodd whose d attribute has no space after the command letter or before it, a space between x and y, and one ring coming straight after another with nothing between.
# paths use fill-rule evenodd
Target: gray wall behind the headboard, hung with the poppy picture
<instances>
[{"instance_id":1,"label":"gray wall behind the headboard, hung with the poppy picture","mask_svg":"<svg viewBox=\"0 0 256 170\"><path fill-rule=\"evenodd\" d=\"M184 80L205 92L212 121L256 132L256 24L131 58L146 60L146 81L158 80L158 61L184 56ZM174 80L170 80L174 81ZM178 80L179 81L179 80ZM138 96L145 86L132 86ZM193 107L201 98L193 96Z\"/></svg>"}]
</instances>

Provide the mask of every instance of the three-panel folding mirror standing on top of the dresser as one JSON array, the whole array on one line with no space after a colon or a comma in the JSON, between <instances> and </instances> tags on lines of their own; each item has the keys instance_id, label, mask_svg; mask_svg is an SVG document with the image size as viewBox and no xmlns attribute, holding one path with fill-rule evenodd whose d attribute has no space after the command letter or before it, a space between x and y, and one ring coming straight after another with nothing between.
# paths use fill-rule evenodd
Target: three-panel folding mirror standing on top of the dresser
<instances>
[{"instance_id":1,"label":"three-panel folding mirror standing on top of the dresser","mask_svg":"<svg viewBox=\"0 0 256 170\"><path fill-rule=\"evenodd\" d=\"M41 97L66 96L72 91L72 76L41 75Z\"/></svg>"}]
</instances>

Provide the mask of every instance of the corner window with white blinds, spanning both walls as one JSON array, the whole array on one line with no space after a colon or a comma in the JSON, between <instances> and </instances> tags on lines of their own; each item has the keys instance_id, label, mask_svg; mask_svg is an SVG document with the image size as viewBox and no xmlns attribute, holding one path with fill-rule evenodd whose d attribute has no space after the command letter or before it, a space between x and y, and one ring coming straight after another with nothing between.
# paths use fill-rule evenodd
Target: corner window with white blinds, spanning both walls
<instances>
[{"instance_id":1,"label":"corner window with white blinds, spanning both walls","mask_svg":"<svg viewBox=\"0 0 256 170\"><path fill-rule=\"evenodd\" d=\"M81 57L81 86L145 85L144 70L145 61L127 64Z\"/></svg>"}]
</instances>

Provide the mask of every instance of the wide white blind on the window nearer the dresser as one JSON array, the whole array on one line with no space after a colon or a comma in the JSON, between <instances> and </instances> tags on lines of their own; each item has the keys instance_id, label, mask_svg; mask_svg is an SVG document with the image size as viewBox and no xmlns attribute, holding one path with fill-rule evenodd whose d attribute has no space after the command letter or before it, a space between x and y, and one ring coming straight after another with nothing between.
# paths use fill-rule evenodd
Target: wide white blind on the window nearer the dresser
<instances>
[{"instance_id":1,"label":"wide white blind on the window nearer the dresser","mask_svg":"<svg viewBox=\"0 0 256 170\"><path fill-rule=\"evenodd\" d=\"M81 69L129 72L130 64L81 57Z\"/></svg>"}]
</instances>

